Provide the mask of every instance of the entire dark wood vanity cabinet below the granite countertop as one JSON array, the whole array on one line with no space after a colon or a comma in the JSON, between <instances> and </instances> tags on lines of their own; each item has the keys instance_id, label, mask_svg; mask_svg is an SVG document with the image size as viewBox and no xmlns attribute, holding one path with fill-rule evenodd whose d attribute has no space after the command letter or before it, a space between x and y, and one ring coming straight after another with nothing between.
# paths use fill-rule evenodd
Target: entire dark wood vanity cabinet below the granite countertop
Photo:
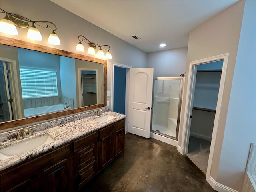
<instances>
[{"instance_id":1,"label":"entire dark wood vanity cabinet below the granite countertop","mask_svg":"<svg viewBox=\"0 0 256 192\"><path fill-rule=\"evenodd\" d=\"M72 192L124 154L125 119L0 173L1 192Z\"/></svg>"}]
</instances>

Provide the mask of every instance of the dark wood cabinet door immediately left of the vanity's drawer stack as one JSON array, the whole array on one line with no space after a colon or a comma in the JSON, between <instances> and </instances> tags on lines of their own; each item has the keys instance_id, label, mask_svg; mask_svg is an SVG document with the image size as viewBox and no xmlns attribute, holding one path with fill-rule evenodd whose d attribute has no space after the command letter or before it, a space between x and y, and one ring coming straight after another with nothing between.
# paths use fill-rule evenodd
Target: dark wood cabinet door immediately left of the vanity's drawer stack
<instances>
[{"instance_id":1,"label":"dark wood cabinet door immediately left of the vanity's drawer stack","mask_svg":"<svg viewBox=\"0 0 256 192\"><path fill-rule=\"evenodd\" d=\"M69 157L38 174L39 191L71 192L73 181L71 165L72 159Z\"/></svg>"}]
</instances>

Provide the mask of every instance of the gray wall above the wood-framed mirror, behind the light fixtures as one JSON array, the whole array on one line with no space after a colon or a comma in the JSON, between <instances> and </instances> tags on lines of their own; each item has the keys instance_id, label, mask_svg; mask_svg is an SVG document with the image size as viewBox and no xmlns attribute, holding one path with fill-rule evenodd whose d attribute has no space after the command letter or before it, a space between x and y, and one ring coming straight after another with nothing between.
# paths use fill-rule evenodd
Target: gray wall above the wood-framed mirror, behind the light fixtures
<instances>
[{"instance_id":1,"label":"gray wall above the wood-framed mirror, behind the light fixtures","mask_svg":"<svg viewBox=\"0 0 256 192\"><path fill-rule=\"evenodd\" d=\"M49 29L38 27L42 34L42 41L32 41L26 37L27 30L18 28L18 36L1 34L11 38L34 42L36 44L54 47L69 52L75 52L78 43L78 35L83 35L90 41L97 44L108 44L111 48L112 59L108 60L107 67L107 89L111 90L111 62L124 65L130 65L133 68L143 68L147 64L147 54L121 40L120 38L106 32L105 30L95 26L94 24L76 16L75 14L65 10L64 8L54 4L49 0L34 1L12 1L1 0L1 8L7 12L20 14L30 20L46 20L53 22L57 26L56 34L60 38L60 46L48 44L48 36L51 33ZM95 8L97 10L97 8ZM86 8L85 8L86 10ZM3 17L4 14L1 14ZM84 46L86 49L86 46ZM87 55L87 53L83 53ZM91 55L88 55L91 56ZM110 96L107 97L110 101ZM110 101L111 102L111 101ZM111 103L110 103L111 106Z\"/></svg>"}]
</instances>

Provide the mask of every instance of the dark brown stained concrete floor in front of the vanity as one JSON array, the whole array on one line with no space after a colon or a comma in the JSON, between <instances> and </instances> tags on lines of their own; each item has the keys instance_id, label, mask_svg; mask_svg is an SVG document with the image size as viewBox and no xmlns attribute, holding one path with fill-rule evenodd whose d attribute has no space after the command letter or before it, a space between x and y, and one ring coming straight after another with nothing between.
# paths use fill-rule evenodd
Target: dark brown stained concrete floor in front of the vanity
<instances>
[{"instance_id":1,"label":"dark brown stained concrete floor in front of the vanity","mask_svg":"<svg viewBox=\"0 0 256 192\"><path fill-rule=\"evenodd\" d=\"M176 147L129 133L125 139L124 155L79 192L215 192Z\"/></svg>"}]
</instances>

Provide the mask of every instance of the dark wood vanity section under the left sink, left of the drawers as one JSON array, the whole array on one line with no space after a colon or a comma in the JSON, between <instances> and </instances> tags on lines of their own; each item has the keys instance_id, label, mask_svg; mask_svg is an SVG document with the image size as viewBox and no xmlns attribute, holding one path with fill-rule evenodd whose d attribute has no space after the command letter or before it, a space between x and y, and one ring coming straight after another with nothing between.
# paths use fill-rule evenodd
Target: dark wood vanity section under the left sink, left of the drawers
<instances>
[{"instance_id":1,"label":"dark wood vanity section under the left sink, left of the drawers","mask_svg":"<svg viewBox=\"0 0 256 192\"><path fill-rule=\"evenodd\" d=\"M70 145L1 171L0 191L72 191Z\"/></svg>"}]
</instances>

